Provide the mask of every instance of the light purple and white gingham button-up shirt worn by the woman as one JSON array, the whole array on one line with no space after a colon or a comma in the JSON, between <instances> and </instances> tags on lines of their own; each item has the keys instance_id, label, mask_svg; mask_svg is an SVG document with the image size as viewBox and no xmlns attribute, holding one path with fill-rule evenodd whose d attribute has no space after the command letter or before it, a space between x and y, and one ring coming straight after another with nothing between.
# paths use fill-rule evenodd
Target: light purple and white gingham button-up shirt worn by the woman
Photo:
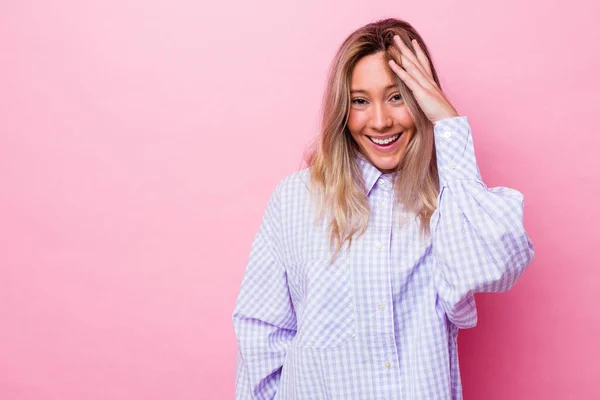
<instances>
[{"instance_id":1,"label":"light purple and white gingham button-up shirt worn by the woman","mask_svg":"<svg viewBox=\"0 0 600 400\"><path fill-rule=\"evenodd\" d=\"M284 178L254 237L233 312L236 399L461 399L459 328L474 292L509 290L533 259L523 195L481 180L467 117L438 121L431 236L359 156L371 217L328 263L308 169ZM397 221L404 219L403 227Z\"/></svg>"}]
</instances>

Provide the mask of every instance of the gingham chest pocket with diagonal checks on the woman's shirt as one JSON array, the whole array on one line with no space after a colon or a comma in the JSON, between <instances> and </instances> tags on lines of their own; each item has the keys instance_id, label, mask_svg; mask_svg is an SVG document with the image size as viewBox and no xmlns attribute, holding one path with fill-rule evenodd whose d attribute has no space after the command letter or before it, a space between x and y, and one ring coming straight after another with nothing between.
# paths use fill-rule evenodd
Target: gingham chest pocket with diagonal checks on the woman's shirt
<instances>
[{"instance_id":1,"label":"gingham chest pocket with diagonal checks on the woman's shirt","mask_svg":"<svg viewBox=\"0 0 600 400\"><path fill-rule=\"evenodd\" d=\"M333 262L307 260L291 268L292 296L296 297L299 347L340 347L356 336L356 317L349 277L349 259Z\"/></svg>"}]
</instances>

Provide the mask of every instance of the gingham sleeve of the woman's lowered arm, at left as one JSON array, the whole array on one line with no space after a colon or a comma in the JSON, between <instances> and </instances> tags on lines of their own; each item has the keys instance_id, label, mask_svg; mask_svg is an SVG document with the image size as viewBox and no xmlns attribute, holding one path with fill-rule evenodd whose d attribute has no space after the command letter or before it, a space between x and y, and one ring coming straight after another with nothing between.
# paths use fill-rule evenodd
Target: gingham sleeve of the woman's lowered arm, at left
<instances>
[{"instance_id":1,"label":"gingham sleeve of the woman's lowered arm, at left","mask_svg":"<svg viewBox=\"0 0 600 400\"><path fill-rule=\"evenodd\" d=\"M238 342L237 400L275 397L286 351L296 334L280 250L280 223L276 189L254 237L232 316Z\"/></svg>"}]
</instances>

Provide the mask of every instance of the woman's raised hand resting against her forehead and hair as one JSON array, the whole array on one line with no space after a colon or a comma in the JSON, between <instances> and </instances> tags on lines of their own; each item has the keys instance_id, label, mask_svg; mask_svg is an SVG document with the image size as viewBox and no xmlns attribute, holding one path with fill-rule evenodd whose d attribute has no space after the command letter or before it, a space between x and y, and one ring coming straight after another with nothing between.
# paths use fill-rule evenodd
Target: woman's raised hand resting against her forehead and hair
<instances>
[{"instance_id":1,"label":"woman's raised hand resting against her forehead and hair","mask_svg":"<svg viewBox=\"0 0 600 400\"><path fill-rule=\"evenodd\" d=\"M427 118L435 124L444 118L457 117L458 112L435 83L429 60L417 41L412 41L416 55L404 44L400 36L394 36L394 42L400 49L400 65L390 60L390 68L412 90L415 100Z\"/></svg>"}]
</instances>

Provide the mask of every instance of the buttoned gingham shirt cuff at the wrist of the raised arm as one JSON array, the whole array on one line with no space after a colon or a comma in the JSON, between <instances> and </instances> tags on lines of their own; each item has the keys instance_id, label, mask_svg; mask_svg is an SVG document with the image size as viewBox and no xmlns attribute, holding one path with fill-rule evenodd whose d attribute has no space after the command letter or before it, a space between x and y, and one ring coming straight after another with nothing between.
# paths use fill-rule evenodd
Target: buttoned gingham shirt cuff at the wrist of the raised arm
<instances>
[{"instance_id":1,"label":"buttoned gingham shirt cuff at the wrist of the raised arm","mask_svg":"<svg viewBox=\"0 0 600 400\"><path fill-rule=\"evenodd\" d=\"M457 180L482 181L466 116L436 121L433 135L440 185Z\"/></svg>"}]
</instances>

